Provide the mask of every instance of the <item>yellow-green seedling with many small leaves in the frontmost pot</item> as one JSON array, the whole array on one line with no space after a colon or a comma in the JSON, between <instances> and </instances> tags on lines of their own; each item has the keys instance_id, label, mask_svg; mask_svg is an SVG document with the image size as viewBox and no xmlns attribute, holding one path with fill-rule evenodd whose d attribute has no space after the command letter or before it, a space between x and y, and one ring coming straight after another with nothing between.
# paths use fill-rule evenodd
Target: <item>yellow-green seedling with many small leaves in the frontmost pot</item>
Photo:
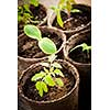
<instances>
[{"instance_id":1,"label":"yellow-green seedling with many small leaves in the frontmost pot","mask_svg":"<svg viewBox=\"0 0 110 110\"><path fill-rule=\"evenodd\" d=\"M36 73L31 78L31 81L35 82L35 88L41 97L43 97L44 92L48 92L48 87L61 88L64 86L62 66L57 62L54 62L55 58L55 54L48 56L48 62L41 63L44 66L43 70Z\"/></svg>"}]
</instances>

